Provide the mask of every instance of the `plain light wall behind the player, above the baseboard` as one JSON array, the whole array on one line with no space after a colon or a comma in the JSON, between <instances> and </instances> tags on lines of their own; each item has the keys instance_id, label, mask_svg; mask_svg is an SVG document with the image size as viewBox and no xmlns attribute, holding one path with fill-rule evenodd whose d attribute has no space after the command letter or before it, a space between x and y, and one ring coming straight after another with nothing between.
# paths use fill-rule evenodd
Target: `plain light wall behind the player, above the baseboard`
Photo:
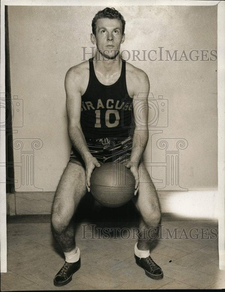
<instances>
[{"instance_id":1,"label":"plain light wall behind the player, above the baseboard","mask_svg":"<svg viewBox=\"0 0 225 292\"><path fill-rule=\"evenodd\" d=\"M11 95L23 101L23 117L13 121L14 139L24 148L14 149L17 191L54 192L64 170L70 142L67 134L64 78L67 70L83 60L83 49L91 52L91 21L98 6L9 6ZM165 186L165 149L157 140L185 139L179 150L180 187L188 190L217 188L217 62L210 51L217 50L217 6L121 6L126 20L121 50L131 53L128 62L143 69L155 98L168 100L168 127L150 129L151 139L144 159L161 166L148 167L157 188ZM159 61L160 49L162 59ZM133 50L151 53L152 59L133 60ZM165 61L166 51L198 50L198 61ZM200 50L208 50L207 57ZM215 54L215 52L213 52ZM127 52L124 58L128 59ZM212 60L201 61L211 57ZM86 55L86 59L90 55ZM173 58L174 59L174 58ZM21 104L21 103L20 103ZM21 110L19 112L21 114ZM23 124L21 125L21 119ZM20 127L21 126L21 127ZM154 131L153 131L154 130ZM157 133L157 131L159 133ZM43 147L30 149L31 140ZM170 139L170 140L168 140ZM38 140L40 142L40 140ZM40 143L42 143L40 142ZM185 142L186 143L186 142ZM26 145L25 145L26 144ZM151 147L152 144L152 147ZM29 148L34 157L34 185L20 188L21 153ZM36 147L38 148L38 147ZM176 149L175 149L176 150ZM33 151L33 152L32 152ZM176 150L177 151L177 150ZM150 164L149 164L150 165ZM169 195L169 193L168 193ZM186 194L187 195L187 194Z\"/></svg>"}]
</instances>

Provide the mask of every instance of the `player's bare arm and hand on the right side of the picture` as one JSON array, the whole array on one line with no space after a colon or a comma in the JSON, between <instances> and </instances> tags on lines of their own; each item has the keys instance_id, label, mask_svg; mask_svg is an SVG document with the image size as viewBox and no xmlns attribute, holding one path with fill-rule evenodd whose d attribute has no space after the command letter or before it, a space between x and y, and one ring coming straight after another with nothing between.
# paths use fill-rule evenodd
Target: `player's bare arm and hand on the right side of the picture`
<instances>
[{"instance_id":1,"label":"player's bare arm and hand on the right side of the picture","mask_svg":"<svg viewBox=\"0 0 225 292\"><path fill-rule=\"evenodd\" d=\"M147 122L148 122L148 94L150 90L150 85L147 74L141 71L140 74L138 75L138 78L136 79L136 82L133 84L136 85L136 87L133 90L133 115L135 129L133 135L133 149L131 152L130 162L126 164L126 166L131 169L136 179L135 185L136 191L134 193L136 195L139 187L138 164L148 142Z\"/></svg>"}]
</instances>

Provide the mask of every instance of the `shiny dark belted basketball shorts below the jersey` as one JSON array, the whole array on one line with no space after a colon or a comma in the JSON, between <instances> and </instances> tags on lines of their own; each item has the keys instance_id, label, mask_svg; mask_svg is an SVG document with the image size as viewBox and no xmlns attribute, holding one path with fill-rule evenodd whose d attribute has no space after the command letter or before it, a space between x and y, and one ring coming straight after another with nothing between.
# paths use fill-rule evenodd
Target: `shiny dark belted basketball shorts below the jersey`
<instances>
[{"instance_id":1,"label":"shiny dark belted basketball shorts below the jersey","mask_svg":"<svg viewBox=\"0 0 225 292\"><path fill-rule=\"evenodd\" d=\"M87 147L92 156L95 157L100 164L106 162L117 162L124 164L130 160L133 139L128 138L86 138ZM81 155L75 150L71 149L69 162L79 164L85 168L85 163Z\"/></svg>"}]
</instances>

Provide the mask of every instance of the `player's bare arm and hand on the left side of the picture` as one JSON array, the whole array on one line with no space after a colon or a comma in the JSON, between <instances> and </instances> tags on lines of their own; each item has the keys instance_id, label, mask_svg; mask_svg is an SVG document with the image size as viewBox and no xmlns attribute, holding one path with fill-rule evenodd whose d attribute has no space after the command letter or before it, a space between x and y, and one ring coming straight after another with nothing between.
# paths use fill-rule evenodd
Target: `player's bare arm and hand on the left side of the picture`
<instances>
[{"instance_id":1,"label":"player's bare arm and hand on the left side of the picture","mask_svg":"<svg viewBox=\"0 0 225 292\"><path fill-rule=\"evenodd\" d=\"M90 191L90 177L99 162L90 153L80 126L81 112L81 82L82 76L75 69L69 69L65 78L66 112L68 119L68 134L72 145L80 153L86 167L87 189Z\"/></svg>"}]
</instances>

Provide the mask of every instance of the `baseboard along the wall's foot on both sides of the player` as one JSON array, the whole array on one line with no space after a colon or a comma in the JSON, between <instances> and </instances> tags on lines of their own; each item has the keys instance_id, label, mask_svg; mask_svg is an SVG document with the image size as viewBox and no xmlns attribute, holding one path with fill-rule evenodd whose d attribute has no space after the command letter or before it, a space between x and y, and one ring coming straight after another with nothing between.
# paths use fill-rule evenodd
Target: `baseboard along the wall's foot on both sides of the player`
<instances>
[{"instance_id":1,"label":"baseboard along the wall's foot on both sides of the player","mask_svg":"<svg viewBox=\"0 0 225 292\"><path fill-rule=\"evenodd\" d=\"M7 215L50 214L55 192L15 192L6 195ZM182 217L219 217L217 190L159 192L162 213Z\"/></svg>"}]
</instances>

